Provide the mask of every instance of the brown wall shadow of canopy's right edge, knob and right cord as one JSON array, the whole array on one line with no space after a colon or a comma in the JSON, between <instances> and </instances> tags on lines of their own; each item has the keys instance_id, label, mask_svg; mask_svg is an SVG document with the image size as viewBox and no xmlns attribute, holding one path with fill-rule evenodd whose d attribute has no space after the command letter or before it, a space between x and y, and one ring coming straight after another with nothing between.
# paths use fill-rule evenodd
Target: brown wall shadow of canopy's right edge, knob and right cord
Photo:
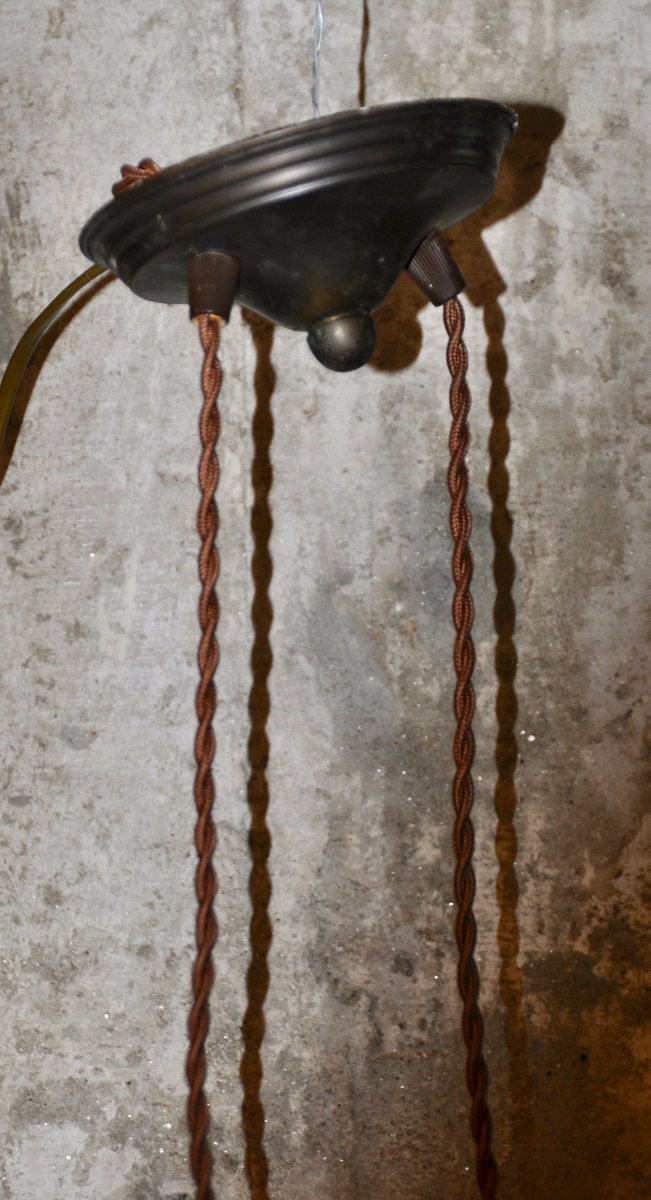
<instances>
[{"instance_id":1,"label":"brown wall shadow of canopy's right edge, knob and right cord","mask_svg":"<svg viewBox=\"0 0 651 1200\"><path fill-rule=\"evenodd\" d=\"M515 1146L518 1195L531 1195L532 1164L537 1156L533 1120L533 1088L528 1064L527 1030L522 1012L522 974L518 964L520 934L518 925L519 884L515 871L518 835L515 817L518 792L518 652L515 646L515 559L512 552L513 517L508 508L510 445L508 355L504 344L506 317L501 295L507 290L494 263L483 233L497 221L528 204L540 190L554 142L562 132L565 119L556 109L542 104L508 102L519 115L518 133L504 151L495 191L490 199L470 217L446 233L446 240L466 277L466 295L482 308L486 331L486 368L490 379L488 491L491 502L490 528L494 544L492 610L495 673L497 692L495 710L496 814L495 853L497 858L496 894L498 905L497 947L500 954L500 995L504 1013L504 1039L508 1055L512 1141ZM420 352L422 329L418 314L429 301L413 281L402 275L386 304L376 313L378 344L371 366L378 371L401 371Z\"/></svg>"}]
</instances>

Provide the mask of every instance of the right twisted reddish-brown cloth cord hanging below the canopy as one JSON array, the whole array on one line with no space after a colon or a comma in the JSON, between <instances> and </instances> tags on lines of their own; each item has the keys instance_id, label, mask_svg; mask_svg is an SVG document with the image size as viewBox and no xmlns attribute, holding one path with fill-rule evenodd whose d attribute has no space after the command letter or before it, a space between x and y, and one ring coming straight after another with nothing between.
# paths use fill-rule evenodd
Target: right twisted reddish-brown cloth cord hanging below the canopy
<instances>
[{"instance_id":1,"label":"right twisted reddish-brown cloth cord hanging below the canopy","mask_svg":"<svg viewBox=\"0 0 651 1200\"><path fill-rule=\"evenodd\" d=\"M474 900L474 870L472 865L474 830L471 810L474 799L474 788L471 768L474 756L474 737L472 732L472 718L474 714L474 691L472 688L474 646L472 643L471 629L474 607L470 592L472 580L472 554L470 550L472 518L466 504L468 474L465 461L470 444L468 412L471 395L466 383L468 354L462 337L464 308L459 300L454 299L446 302L443 306L443 320L449 338L447 359L452 376L448 488L452 502L450 529L454 539L452 574L455 587L453 618L456 630L454 643L454 668L456 671L454 715L456 718L456 732L454 737L455 775L453 802L455 821L453 844L456 854L454 894L456 900L455 935L459 947L458 982L464 1002L461 1028L466 1044L466 1084L471 1096L470 1123L477 1147L477 1182L482 1200L494 1200L497 1168L490 1147L490 1116L486 1106L488 1072L482 1052L484 1026L478 1006L479 972L474 961L477 925L472 911Z\"/></svg>"}]
</instances>

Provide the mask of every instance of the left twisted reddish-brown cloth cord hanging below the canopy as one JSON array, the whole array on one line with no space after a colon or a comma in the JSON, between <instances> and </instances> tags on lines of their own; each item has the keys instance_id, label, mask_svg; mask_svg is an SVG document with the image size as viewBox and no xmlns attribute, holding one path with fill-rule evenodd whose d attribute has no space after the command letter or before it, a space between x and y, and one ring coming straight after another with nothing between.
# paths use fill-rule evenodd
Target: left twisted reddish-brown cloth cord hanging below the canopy
<instances>
[{"instance_id":1,"label":"left twisted reddish-brown cloth cord hanging below the canopy","mask_svg":"<svg viewBox=\"0 0 651 1200\"><path fill-rule=\"evenodd\" d=\"M216 583L220 570L216 535L219 512L215 492L220 476L216 454L220 436L220 414L217 396L221 385L221 365L217 359L221 320L219 317L198 318L199 336L203 346L202 390L203 408L199 420L202 455L199 460L201 502L197 514L197 530L201 538L199 550L199 625L201 642L198 650L199 685L196 695L198 719L195 739L195 757L197 770L195 775L195 804L197 824L195 845L198 863L195 876L197 889L197 956L192 970L192 1007L187 1020L190 1048L185 1063L190 1096L187 1098L187 1123L190 1126L190 1165L197 1184L197 1200L214 1200L211 1188L213 1154L208 1145L208 1103L205 1099L205 1039L210 1026L210 991L215 976L213 950L217 940L217 920L215 917L215 896L217 878L213 865L213 856L217 842L213 805L215 800L215 782L213 779L213 760L215 757L215 733L213 719L216 709L215 671L219 662L216 629L219 620L219 601Z\"/></svg>"}]
</instances>

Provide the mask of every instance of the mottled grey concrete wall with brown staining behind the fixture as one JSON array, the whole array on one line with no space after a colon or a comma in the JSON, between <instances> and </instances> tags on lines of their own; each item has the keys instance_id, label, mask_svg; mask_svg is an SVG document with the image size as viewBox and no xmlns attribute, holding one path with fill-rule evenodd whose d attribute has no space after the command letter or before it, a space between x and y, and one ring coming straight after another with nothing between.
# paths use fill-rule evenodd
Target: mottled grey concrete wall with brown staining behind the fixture
<instances>
[{"instance_id":1,"label":"mottled grey concrete wall with brown staining behind the fixture","mask_svg":"<svg viewBox=\"0 0 651 1200\"><path fill-rule=\"evenodd\" d=\"M328 113L358 102L363 6L324 7ZM450 234L476 397L477 912L504 1200L647 1183L645 11L369 0L368 103L471 94L522 114L496 199ZM6 0L2 361L82 270L77 232L121 162L310 118L311 22L287 0ZM335 377L300 335L235 313L223 362L217 1193L471 1198L441 320L402 282L374 364ZM50 352L0 490L8 1200L191 1194L197 371L186 314L111 284ZM247 793L258 821L264 804L264 746L247 761L256 407L273 466L268 1183L259 1153L247 1180L240 1111Z\"/></svg>"}]
</instances>

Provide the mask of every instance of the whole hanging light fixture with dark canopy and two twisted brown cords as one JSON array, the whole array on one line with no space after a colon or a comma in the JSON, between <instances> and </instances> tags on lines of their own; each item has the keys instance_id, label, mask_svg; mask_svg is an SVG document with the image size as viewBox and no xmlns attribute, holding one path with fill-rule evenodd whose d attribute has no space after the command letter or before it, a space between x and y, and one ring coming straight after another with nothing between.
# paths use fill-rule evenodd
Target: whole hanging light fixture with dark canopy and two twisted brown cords
<instances>
[{"instance_id":1,"label":"whole hanging light fixture with dark canopy and two twisted brown cords","mask_svg":"<svg viewBox=\"0 0 651 1200\"><path fill-rule=\"evenodd\" d=\"M279 325L306 335L310 350L323 366L351 371L370 359L376 342L372 314L404 270L434 305L443 306L449 336L453 414L448 482L454 538L454 664L458 677L453 785L455 932L477 1180L483 1200L491 1200L496 1169L490 1147L478 972L473 956L474 652L471 638L471 518L465 466L470 391L462 341L464 313L456 299L464 281L441 232L474 211L491 193L516 118L504 106L480 100L428 100L321 118L322 32L322 10L317 0L312 70L315 120L262 133L165 169L153 160L123 168L113 199L89 220L80 235L82 251L95 265L48 306L10 360L0 384L0 443L24 370L38 341L79 293L94 287L102 275L119 276L145 300L189 306L199 328L204 360L202 499L197 522L202 586L195 748L198 911L186 1073L196 1196L197 1200L211 1200L215 1193L204 1092L204 1048L217 936L213 866L216 844L213 718L219 659L215 491L219 481L221 365L217 349L221 330L237 301Z\"/></svg>"}]
</instances>

